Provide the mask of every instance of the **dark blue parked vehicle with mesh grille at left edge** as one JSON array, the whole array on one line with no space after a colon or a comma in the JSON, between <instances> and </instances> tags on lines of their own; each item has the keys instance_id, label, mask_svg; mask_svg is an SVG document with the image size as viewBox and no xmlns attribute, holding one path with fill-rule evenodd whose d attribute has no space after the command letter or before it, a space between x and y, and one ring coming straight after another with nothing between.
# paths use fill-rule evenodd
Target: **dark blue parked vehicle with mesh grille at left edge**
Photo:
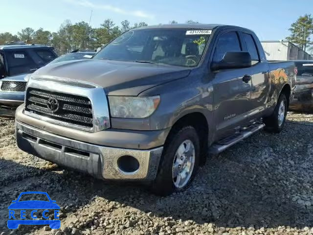
<instances>
[{"instance_id":1,"label":"dark blue parked vehicle with mesh grille at left edge","mask_svg":"<svg viewBox=\"0 0 313 235\"><path fill-rule=\"evenodd\" d=\"M13 115L24 102L26 75L56 57L53 47L45 45L0 45L0 116Z\"/></svg>"}]
</instances>

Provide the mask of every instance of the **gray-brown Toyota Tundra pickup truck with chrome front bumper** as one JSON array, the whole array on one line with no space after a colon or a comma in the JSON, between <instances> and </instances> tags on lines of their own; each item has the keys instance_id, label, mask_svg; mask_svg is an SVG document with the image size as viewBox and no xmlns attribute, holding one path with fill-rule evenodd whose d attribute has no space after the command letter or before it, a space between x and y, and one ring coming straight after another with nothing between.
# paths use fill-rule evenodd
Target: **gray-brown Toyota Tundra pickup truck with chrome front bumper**
<instances>
[{"instance_id":1,"label":"gray-brown Toyota Tundra pickup truck with chrome front bumper","mask_svg":"<svg viewBox=\"0 0 313 235\"><path fill-rule=\"evenodd\" d=\"M268 63L251 30L217 24L125 32L93 59L45 66L16 111L18 146L105 180L186 189L208 153L280 132L294 62Z\"/></svg>"}]
</instances>

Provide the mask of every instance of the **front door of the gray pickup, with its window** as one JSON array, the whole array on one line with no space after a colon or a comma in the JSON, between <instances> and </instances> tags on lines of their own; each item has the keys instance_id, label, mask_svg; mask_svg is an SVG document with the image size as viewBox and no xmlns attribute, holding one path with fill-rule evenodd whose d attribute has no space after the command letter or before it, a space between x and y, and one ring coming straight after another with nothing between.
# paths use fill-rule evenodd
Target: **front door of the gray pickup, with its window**
<instances>
[{"instance_id":1,"label":"front door of the gray pickup, with its window","mask_svg":"<svg viewBox=\"0 0 313 235\"><path fill-rule=\"evenodd\" d=\"M212 62L220 62L227 51L243 50L236 30L222 31L214 48ZM251 110L251 80L244 79L247 74L248 68L212 73L217 139L232 134L236 127L246 123L246 116Z\"/></svg>"}]
</instances>

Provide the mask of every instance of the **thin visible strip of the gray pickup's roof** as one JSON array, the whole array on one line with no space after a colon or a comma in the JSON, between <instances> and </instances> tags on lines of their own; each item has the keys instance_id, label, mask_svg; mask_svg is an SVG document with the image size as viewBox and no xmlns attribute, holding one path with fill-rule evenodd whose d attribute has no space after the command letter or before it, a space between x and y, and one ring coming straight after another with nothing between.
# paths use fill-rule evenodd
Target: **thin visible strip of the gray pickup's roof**
<instances>
[{"instance_id":1,"label":"thin visible strip of the gray pickup's roof","mask_svg":"<svg viewBox=\"0 0 313 235\"><path fill-rule=\"evenodd\" d=\"M229 27L235 27L235 28L243 28L240 26L235 25L227 25L227 24L158 24L158 25L149 25L145 27L135 28L136 29L142 29L142 28L201 28L201 29L209 29L212 30L217 27L223 27L223 28L229 28ZM244 28L246 30L251 31L250 29Z\"/></svg>"}]
</instances>

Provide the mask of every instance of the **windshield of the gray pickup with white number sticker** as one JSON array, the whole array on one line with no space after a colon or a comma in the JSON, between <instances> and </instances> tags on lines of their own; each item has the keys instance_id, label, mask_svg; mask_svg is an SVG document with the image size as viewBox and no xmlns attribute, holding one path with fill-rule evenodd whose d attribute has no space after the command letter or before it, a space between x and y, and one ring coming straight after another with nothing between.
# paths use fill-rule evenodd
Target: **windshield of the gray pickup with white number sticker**
<instances>
[{"instance_id":1,"label":"windshield of the gray pickup with white number sticker","mask_svg":"<svg viewBox=\"0 0 313 235\"><path fill-rule=\"evenodd\" d=\"M94 59L194 67L199 64L211 30L136 29L117 37Z\"/></svg>"}]
</instances>

